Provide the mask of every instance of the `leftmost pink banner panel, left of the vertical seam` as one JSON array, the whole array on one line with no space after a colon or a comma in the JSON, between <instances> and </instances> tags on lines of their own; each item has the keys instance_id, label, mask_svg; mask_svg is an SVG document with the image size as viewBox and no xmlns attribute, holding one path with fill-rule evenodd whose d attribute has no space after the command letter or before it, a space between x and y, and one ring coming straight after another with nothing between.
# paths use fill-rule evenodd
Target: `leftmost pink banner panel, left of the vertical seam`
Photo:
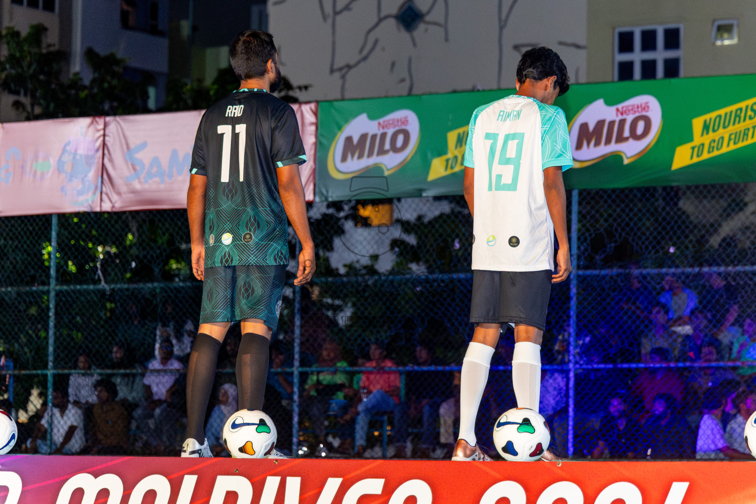
<instances>
[{"instance_id":1,"label":"leftmost pink banner panel, left of the vertical seam","mask_svg":"<svg viewBox=\"0 0 756 504\"><path fill-rule=\"evenodd\" d=\"M0 215L99 212L104 117L0 124Z\"/></svg>"}]
</instances>

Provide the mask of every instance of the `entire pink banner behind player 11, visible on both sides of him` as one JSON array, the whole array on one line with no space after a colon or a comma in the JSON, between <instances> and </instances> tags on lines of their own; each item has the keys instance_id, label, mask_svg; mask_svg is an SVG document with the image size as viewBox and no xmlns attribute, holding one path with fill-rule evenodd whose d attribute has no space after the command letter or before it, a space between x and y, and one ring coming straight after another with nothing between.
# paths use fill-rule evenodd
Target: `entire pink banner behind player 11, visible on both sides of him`
<instances>
[{"instance_id":1,"label":"entire pink banner behind player 11, visible on both sides of him","mask_svg":"<svg viewBox=\"0 0 756 504\"><path fill-rule=\"evenodd\" d=\"M314 199L318 104L293 104ZM0 124L0 216L184 209L203 110Z\"/></svg>"}]
</instances>

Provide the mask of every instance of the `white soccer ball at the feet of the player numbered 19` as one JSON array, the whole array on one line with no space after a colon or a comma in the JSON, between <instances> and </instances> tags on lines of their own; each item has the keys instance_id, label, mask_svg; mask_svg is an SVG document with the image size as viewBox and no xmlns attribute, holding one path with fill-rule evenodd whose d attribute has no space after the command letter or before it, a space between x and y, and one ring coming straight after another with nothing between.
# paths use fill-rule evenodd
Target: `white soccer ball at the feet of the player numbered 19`
<instances>
[{"instance_id":1,"label":"white soccer ball at the feet of the player numbered 19","mask_svg":"<svg viewBox=\"0 0 756 504\"><path fill-rule=\"evenodd\" d=\"M550 441L546 420L529 408L513 408L494 425L494 445L506 460L538 460Z\"/></svg>"}]
</instances>

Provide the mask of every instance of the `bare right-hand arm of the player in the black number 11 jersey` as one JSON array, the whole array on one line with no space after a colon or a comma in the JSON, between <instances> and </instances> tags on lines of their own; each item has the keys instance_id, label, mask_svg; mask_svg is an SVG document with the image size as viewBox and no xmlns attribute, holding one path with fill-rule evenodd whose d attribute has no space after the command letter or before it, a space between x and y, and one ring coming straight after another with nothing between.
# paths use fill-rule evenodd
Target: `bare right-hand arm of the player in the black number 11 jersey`
<instances>
[{"instance_id":1,"label":"bare right-hand arm of the player in the black number 11 jersey","mask_svg":"<svg viewBox=\"0 0 756 504\"><path fill-rule=\"evenodd\" d=\"M302 187L302 179L299 178L299 165L282 166L276 172L283 211L286 212L299 242L302 243L302 252L299 252L299 268L297 268L296 280L294 280L294 285L301 286L308 283L315 272L315 247L310 236L310 224L307 221L305 190Z\"/></svg>"}]
</instances>

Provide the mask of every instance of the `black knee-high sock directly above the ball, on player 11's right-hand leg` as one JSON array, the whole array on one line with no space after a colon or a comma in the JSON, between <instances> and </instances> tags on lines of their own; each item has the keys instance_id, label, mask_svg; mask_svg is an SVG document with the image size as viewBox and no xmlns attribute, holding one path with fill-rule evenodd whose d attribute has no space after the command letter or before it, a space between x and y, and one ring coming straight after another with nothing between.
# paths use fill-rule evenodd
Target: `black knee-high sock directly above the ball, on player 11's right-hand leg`
<instances>
[{"instance_id":1,"label":"black knee-high sock directly above the ball, on player 11's right-hand leg","mask_svg":"<svg viewBox=\"0 0 756 504\"><path fill-rule=\"evenodd\" d=\"M262 410L265 379L268 378L268 345L262 334L245 332L237 354L237 388L240 410Z\"/></svg>"}]
</instances>

